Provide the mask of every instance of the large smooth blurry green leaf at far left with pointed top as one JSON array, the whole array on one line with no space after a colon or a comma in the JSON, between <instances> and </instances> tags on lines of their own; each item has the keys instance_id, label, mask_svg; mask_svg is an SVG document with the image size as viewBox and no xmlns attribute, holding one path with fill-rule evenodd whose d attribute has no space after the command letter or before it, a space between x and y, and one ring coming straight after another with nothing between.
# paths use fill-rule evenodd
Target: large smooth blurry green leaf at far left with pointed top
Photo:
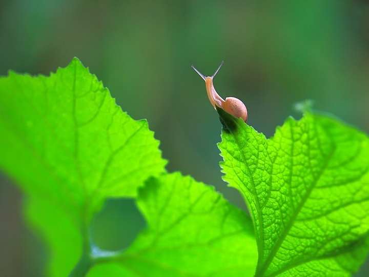
<instances>
[{"instance_id":1,"label":"large smooth blurry green leaf at far left with pointed top","mask_svg":"<svg viewBox=\"0 0 369 277\"><path fill-rule=\"evenodd\" d=\"M0 167L27 195L26 214L66 276L89 245L107 197L135 196L164 171L146 121L134 121L77 58L50 77L0 78Z\"/></svg>"}]
</instances>

